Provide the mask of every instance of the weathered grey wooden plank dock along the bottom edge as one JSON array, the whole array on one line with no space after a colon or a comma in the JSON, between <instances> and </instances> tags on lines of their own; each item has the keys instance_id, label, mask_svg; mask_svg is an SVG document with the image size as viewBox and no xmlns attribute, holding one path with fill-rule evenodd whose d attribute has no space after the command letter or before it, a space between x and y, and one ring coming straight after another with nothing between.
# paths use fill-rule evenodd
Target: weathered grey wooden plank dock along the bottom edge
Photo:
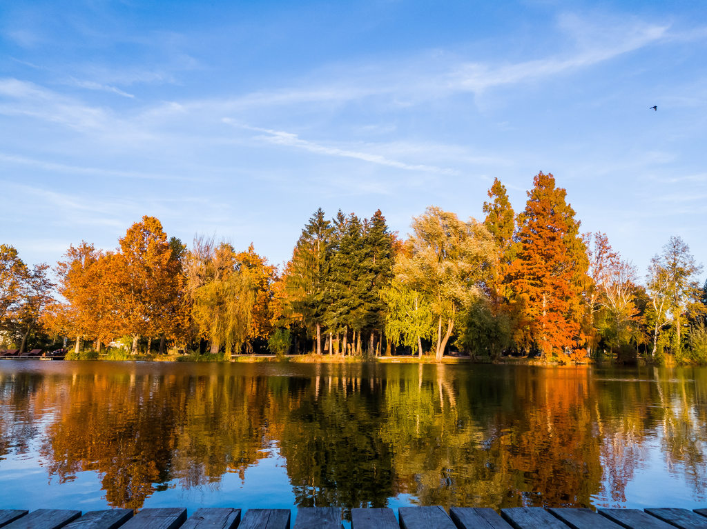
<instances>
[{"instance_id":1,"label":"weathered grey wooden plank dock along the bottom edge","mask_svg":"<svg viewBox=\"0 0 707 529\"><path fill-rule=\"evenodd\" d=\"M130 509L71 511L0 509L4 529L290 529L289 509ZM297 510L293 529L341 529L341 509L305 507ZM351 529L707 529L707 509L544 509L513 507L499 515L493 509L400 507L351 509Z\"/></svg>"}]
</instances>

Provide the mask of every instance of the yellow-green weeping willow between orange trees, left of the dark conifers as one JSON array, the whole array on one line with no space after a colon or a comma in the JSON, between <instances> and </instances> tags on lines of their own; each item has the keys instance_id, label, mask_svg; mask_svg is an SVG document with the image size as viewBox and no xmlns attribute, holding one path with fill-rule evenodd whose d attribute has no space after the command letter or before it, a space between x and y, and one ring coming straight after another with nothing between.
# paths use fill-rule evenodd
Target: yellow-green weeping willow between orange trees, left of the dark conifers
<instances>
[{"instance_id":1,"label":"yellow-green weeping willow between orange trees, left of the dark conifers","mask_svg":"<svg viewBox=\"0 0 707 529\"><path fill-rule=\"evenodd\" d=\"M192 319L209 340L211 354L221 347L240 350L251 329L256 287L233 246L211 239L194 239L185 258L185 278L192 302Z\"/></svg>"}]
</instances>

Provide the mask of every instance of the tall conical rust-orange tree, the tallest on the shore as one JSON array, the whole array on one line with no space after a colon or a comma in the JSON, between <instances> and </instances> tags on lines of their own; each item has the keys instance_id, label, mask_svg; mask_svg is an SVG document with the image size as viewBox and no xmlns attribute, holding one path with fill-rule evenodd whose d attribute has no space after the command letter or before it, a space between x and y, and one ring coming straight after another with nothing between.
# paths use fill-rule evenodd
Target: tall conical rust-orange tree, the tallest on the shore
<instances>
[{"instance_id":1,"label":"tall conical rust-orange tree, the tallest on the shore","mask_svg":"<svg viewBox=\"0 0 707 529\"><path fill-rule=\"evenodd\" d=\"M544 359L583 356L583 293L589 285L586 246L580 222L566 203L566 190L552 174L539 172L520 215L518 258L510 267L515 302L524 311L524 342Z\"/></svg>"}]
</instances>

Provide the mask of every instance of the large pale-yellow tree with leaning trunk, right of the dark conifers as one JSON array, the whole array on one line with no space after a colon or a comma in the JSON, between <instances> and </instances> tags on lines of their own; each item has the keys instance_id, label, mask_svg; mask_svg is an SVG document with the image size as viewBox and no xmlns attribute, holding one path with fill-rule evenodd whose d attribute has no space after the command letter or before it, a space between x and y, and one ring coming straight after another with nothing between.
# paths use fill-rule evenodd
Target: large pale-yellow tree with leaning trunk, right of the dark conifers
<instances>
[{"instance_id":1,"label":"large pale-yellow tree with leaning trunk, right of the dark conifers","mask_svg":"<svg viewBox=\"0 0 707 529\"><path fill-rule=\"evenodd\" d=\"M464 222L432 206L413 218L412 230L393 271L400 283L430 300L436 320L435 358L440 362L464 309L487 295L496 244L477 220Z\"/></svg>"}]
</instances>

